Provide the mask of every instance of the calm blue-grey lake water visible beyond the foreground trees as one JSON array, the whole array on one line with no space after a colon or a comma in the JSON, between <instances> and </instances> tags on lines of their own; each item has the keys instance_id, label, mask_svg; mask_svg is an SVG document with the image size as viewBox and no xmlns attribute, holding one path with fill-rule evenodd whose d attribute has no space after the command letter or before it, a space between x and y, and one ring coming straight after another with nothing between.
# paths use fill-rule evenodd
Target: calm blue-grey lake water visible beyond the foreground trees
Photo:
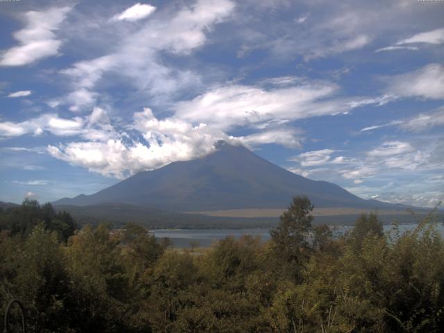
<instances>
[{"instance_id":1,"label":"calm blue-grey lake water visible beyond the foreground trees","mask_svg":"<svg viewBox=\"0 0 444 333\"><path fill-rule=\"evenodd\" d=\"M341 234L347 230L352 229L351 226L339 226L333 228L335 234ZM391 225L384 225L384 231L389 232L393 227ZM416 224L401 224L399 225L400 232L407 230L413 230L416 228ZM442 223L436 225L438 230L444 237L444 225ZM195 246L211 246L214 242L224 239L227 236L233 236L239 239L244 234L250 234L253 236L259 236L263 241L270 239L268 229L157 229L151 230L155 234L155 237L169 237L173 242L173 246L176 248L189 248L191 244Z\"/></svg>"}]
</instances>

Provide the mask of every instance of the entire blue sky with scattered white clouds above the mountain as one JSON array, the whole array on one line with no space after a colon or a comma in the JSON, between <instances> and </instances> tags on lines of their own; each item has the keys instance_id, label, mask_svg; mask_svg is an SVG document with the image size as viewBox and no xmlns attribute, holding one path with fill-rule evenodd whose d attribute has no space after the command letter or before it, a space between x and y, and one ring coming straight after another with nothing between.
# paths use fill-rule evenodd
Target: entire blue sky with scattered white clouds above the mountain
<instances>
[{"instance_id":1,"label":"entire blue sky with scattered white clouds above the mountain","mask_svg":"<svg viewBox=\"0 0 444 333\"><path fill-rule=\"evenodd\" d=\"M363 198L444 200L443 1L0 1L0 200L221 139Z\"/></svg>"}]
</instances>

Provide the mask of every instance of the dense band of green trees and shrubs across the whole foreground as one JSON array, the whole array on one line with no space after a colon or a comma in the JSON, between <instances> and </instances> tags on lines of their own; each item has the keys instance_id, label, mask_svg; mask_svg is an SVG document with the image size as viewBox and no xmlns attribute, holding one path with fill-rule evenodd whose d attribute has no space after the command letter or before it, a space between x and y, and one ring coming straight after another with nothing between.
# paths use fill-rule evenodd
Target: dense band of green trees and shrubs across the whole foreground
<instances>
[{"instance_id":1,"label":"dense band of green trees and shrubs across the whole foreground","mask_svg":"<svg viewBox=\"0 0 444 333\"><path fill-rule=\"evenodd\" d=\"M28 332L442 332L432 214L390 235L362 215L332 239L312 208L293 198L266 244L227 237L194 255L137 225L76 230L27 200L0 212L0 313L22 300Z\"/></svg>"}]
</instances>

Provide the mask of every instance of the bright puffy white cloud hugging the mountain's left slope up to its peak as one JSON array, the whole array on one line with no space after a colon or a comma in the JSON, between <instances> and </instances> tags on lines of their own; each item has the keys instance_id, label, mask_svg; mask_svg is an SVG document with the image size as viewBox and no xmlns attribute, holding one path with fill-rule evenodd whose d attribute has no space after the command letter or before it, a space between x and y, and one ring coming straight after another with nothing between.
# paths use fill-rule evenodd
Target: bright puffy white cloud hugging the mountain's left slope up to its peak
<instances>
[{"instance_id":1,"label":"bright puffy white cloud hugging the mountain's left slope up to its peak","mask_svg":"<svg viewBox=\"0 0 444 333\"><path fill-rule=\"evenodd\" d=\"M159 120L148 108L135 113L132 128L139 131L144 142L128 143L124 133L116 133L114 139L107 141L49 145L48 152L103 176L124 178L138 171L207 155L215 150L219 140L230 140L205 124L191 126L180 119Z\"/></svg>"}]
</instances>

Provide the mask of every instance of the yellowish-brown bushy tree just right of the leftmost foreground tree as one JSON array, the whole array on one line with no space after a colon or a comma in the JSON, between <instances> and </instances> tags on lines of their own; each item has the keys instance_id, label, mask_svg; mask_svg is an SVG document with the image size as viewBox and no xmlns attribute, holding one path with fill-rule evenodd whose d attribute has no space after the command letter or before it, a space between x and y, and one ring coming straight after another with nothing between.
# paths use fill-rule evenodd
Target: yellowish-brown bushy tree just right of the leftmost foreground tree
<instances>
[{"instance_id":1,"label":"yellowish-brown bushy tree just right of the leftmost foreground tree","mask_svg":"<svg viewBox=\"0 0 444 333\"><path fill-rule=\"evenodd\" d=\"M126 318L128 278L119 234L108 225L89 225L69 239L71 326L80 332L121 332Z\"/></svg>"}]
</instances>

